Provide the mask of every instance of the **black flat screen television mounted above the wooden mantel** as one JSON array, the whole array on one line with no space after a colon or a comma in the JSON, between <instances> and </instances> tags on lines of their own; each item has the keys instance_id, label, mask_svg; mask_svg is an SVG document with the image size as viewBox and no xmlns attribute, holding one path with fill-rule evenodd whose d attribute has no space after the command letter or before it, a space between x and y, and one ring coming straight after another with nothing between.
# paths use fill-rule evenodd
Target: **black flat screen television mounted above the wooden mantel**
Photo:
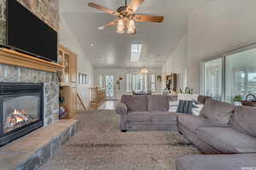
<instances>
[{"instance_id":1,"label":"black flat screen television mounted above the wooden mantel","mask_svg":"<svg viewBox=\"0 0 256 170\"><path fill-rule=\"evenodd\" d=\"M57 32L17 0L7 2L7 46L56 62Z\"/></svg>"}]
</instances>

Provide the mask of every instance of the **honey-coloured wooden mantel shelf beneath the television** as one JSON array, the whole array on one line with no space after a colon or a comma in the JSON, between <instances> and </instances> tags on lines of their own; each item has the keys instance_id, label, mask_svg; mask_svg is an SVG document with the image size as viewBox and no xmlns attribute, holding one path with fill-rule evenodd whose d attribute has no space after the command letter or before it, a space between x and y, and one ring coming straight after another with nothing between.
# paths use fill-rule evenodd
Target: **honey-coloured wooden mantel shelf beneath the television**
<instances>
[{"instance_id":1,"label":"honey-coloured wooden mantel shelf beneath the television","mask_svg":"<svg viewBox=\"0 0 256 170\"><path fill-rule=\"evenodd\" d=\"M0 48L0 63L49 72L60 71L63 68L62 65L22 54L8 48Z\"/></svg>"}]
</instances>

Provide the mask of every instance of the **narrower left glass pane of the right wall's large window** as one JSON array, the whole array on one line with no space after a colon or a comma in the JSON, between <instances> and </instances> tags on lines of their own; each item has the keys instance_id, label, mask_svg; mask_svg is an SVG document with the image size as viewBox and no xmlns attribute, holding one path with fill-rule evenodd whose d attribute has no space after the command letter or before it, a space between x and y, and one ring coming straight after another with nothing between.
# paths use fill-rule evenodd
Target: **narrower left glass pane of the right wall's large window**
<instances>
[{"instance_id":1,"label":"narrower left glass pane of the right wall's large window","mask_svg":"<svg viewBox=\"0 0 256 170\"><path fill-rule=\"evenodd\" d=\"M222 99L222 59L213 59L204 63L204 94L213 99Z\"/></svg>"}]
</instances>

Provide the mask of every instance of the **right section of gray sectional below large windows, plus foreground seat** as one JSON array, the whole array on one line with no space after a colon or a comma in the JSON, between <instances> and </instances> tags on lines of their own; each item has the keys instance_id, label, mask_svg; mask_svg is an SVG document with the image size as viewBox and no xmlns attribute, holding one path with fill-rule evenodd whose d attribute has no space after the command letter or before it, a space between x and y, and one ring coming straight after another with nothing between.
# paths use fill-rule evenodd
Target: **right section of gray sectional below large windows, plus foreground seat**
<instances>
[{"instance_id":1,"label":"right section of gray sectional below large windows, plus foreground seat","mask_svg":"<svg viewBox=\"0 0 256 170\"><path fill-rule=\"evenodd\" d=\"M212 99L207 99L201 116L178 115L178 131L210 155L179 157L177 170L256 169L255 122L256 108Z\"/></svg>"}]
</instances>

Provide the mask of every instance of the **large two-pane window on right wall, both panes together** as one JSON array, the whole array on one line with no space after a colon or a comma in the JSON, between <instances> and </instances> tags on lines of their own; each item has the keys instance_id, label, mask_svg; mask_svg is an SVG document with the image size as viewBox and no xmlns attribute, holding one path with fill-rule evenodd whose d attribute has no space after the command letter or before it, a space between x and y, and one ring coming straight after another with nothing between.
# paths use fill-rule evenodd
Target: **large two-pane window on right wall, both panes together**
<instances>
[{"instance_id":1,"label":"large two-pane window on right wall, both panes together","mask_svg":"<svg viewBox=\"0 0 256 170\"><path fill-rule=\"evenodd\" d=\"M256 48L248 48L204 62L205 95L232 103L236 95L245 99L247 94L256 94Z\"/></svg>"}]
</instances>

